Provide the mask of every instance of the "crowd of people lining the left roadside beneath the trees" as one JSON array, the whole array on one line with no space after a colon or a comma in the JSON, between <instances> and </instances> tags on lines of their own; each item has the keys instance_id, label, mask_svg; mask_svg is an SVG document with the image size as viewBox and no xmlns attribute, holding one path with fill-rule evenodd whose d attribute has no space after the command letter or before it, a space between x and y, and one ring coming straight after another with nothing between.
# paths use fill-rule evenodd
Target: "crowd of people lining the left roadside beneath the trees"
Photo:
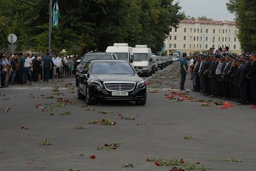
<instances>
[{"instance_id":1,"label":"crowd of people lining the left roadside beneath the trees","mask_svg":"<svg viewBox=\"0 0 256 171\"><path fill-rule=\"evenodd\" d=\"M30 84L43 80L74 76L80 56L58 57L57 55L11 54L0 51L0 88L11 85Z\"/></svg>"}]
</instances>

